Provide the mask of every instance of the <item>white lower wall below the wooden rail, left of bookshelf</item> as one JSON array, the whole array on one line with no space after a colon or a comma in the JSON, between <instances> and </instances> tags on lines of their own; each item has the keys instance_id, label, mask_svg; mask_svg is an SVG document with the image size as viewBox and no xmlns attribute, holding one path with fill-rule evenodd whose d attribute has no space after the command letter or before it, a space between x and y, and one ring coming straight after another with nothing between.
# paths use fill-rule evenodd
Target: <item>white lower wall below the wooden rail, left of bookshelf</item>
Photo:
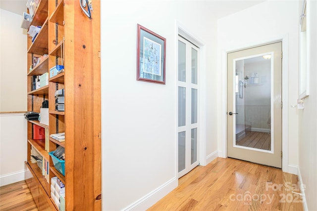
<instances>
[{"instance_id":1,"label":"white lower wall below the wooden rail, left of bookshelf","mask_svg":"<svg viewBox=\"0 0 317 211\"><path fill-rule=\"evenodd\" d=\"M27 121L23 114L0 114L0 186L24 179Z\"/></svg>"}]
</instances>

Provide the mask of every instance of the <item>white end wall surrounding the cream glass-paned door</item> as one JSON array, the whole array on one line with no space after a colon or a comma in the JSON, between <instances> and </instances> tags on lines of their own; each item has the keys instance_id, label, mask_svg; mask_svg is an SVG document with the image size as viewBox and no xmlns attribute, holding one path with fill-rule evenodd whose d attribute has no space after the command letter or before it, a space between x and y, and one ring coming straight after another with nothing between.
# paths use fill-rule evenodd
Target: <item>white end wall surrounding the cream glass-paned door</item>
<instances>
[{"instance_id":1,"label":"white end wall surrounding the cream glass-paned door","mask_svg":"<svg viewBox=\"0 0 317 211\"><path fill-rule=\"evenodd\" d=\"M288 122L283 124L288 129L288 163L283 170L297 172L298 166L298 111L291 108L297 102L298 97L298 1L264 1L241 12L226 16L218 20L218 101L221 102L218 110L218 149L225 149L223 143L226 137L226 60L225 52L248 47L263 42L282 39L288 36L288 51L284 52L285 58L288 54L288 82L283 96L288 98L288 103L283 102L283 109ZM285 60L284 58L284 60ZM286 65L283 67L286 68ZM286 93L288 92L288 93ZM285 107L286 106L286 107ZM289 108L289 109L288 109ZM286 139L287 140L287 139ZM284 154L283 153L283 154ZM225 155L222 155L225 157Z\"/></svg>"}]
</instances>

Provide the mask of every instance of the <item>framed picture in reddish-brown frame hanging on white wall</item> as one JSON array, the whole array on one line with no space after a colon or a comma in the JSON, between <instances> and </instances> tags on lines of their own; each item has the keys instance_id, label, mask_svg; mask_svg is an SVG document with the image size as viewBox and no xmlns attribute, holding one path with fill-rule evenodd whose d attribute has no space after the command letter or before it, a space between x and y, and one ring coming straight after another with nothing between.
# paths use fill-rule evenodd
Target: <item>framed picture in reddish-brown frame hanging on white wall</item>
<instances>
[{"instance_id":1,"label":"framed picture in reddish-brown frame hanging on white wall","mask_svg":"<svg viewBox=\"0 0 317 211\"><path fill-rule=\"evenodd\" d=\"M137 26L137 80L165 84L166 39Z\"/></svg>"}]
</instances>

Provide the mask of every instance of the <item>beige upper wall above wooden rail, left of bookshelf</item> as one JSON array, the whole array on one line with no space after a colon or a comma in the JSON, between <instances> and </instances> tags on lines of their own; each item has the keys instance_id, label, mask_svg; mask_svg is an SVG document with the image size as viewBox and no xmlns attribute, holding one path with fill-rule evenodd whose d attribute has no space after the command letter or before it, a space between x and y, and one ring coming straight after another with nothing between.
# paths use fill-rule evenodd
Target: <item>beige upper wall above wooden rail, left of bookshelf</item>
<instances>
[{"instance_id":1,"label":"beige upper wall above wooden rail, left of bookshelf","mask_svg":"<svg viewBox=\"0 0 317 211\"><path fill-rule=\"evenodd\" d=\"M27 110L27 39L22 15L0 10L0 112Z\"/></svg>"}]
</instances>

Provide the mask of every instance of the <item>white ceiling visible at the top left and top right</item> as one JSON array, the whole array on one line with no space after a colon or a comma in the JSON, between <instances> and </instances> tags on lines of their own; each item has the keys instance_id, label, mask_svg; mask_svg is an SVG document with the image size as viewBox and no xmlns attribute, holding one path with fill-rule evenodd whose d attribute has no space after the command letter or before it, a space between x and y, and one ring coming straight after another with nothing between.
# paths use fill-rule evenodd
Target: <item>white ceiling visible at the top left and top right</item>
<instances>
[{"instance_id":1,"label":"white ceiling visible at the top left and top right","mask_svg":"<svg viewBox=\"0 0 317 211\"><path fill-rule=\"evenodd\" d=\"M171 0L173 1L173 0ZM184 2L190 0L184 0ZM195 1L195 0L193 0ZM200 0L197 0L198 2ZM211 8L208 8L209 12L215 14L217 18L236 13L238 11L244 10L253 5L259 4L264 0L206 0L210 1ZM27 0L0 0L0 8L7 11L23 15L26 12ZM104 1L105 2L105 1ZM107 4L111 1L107 1Z\"/></svg>"}]
</instances>

